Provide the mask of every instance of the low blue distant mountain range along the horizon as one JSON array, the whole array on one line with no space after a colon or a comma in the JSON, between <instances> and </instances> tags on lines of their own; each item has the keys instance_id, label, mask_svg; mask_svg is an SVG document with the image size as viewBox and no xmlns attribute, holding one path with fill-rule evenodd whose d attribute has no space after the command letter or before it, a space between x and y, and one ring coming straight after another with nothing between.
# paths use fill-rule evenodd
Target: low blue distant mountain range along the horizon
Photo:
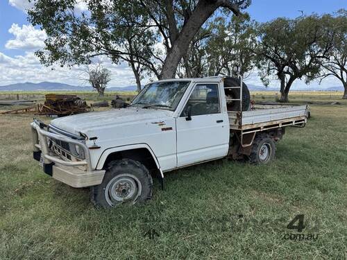
<instances>
[{"instance_id":1,"label":"low blue distant mountain range along the horizon","mask_svg":"<svg viewBox=\"0 0 347 260\"><path fill-rule=\"evenodd\" d=\"M137 87L135 85L130 85L126 87L108 87L106 91L113 92L129 92L136 91ZM264 87L248 84L248 89L253 92L275 92L279 89L276 87ZM322 87L307 87L305 89L293 89L295 91L343 91L344 87L334 86L328 88ZM0 86L0 91L75 91L75 92L90 92L92 87L80 87L73 86L63 83L51 83L51 82L42 82L42 83L17 83L11 85Z\"/></svg>"}]
</instances>

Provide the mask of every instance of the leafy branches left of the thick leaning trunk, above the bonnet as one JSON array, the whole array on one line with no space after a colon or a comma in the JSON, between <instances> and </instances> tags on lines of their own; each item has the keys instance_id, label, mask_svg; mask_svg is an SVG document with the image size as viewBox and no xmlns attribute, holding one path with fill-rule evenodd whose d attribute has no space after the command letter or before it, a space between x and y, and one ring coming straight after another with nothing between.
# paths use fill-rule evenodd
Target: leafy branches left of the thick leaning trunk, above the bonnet
<instances>
[{"instance_id":1,"label":"leafy branches left of the thick leaning trunk, above the bonnet","mask_svg":"<svg viewBox=\"0 0 347 260\"><path fill-rule=\"evenodd\" d=\"M28 11L29 20L47 33L45 48L37 51L43 64L60 66L90 64L94 57L107 55L112 62L128 62L137 87L144 73L158 73L154 46L158 34L151 21L133 1L88 0L88 10L78 13L74 0L37 0Z\"/></svg>"}]
</instances>

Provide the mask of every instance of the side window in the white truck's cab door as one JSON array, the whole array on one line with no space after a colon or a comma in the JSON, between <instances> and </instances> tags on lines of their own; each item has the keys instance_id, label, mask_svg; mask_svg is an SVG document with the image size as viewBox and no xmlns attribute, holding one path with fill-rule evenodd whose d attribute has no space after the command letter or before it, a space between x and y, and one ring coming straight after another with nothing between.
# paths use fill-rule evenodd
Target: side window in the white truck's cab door
<instances>
[{"instance_id":1,"label":"side window in the white truck's cab door","mask_svg":"<svg viewBox=\"0 0 347 260\"><path fill-rule=\"evenodd\" d=\"M199 84L192 94L180 116L187 116L187 107L191 106L192 116L217 114L221 112L217 84Z\"/></svg>"}]
</instances>

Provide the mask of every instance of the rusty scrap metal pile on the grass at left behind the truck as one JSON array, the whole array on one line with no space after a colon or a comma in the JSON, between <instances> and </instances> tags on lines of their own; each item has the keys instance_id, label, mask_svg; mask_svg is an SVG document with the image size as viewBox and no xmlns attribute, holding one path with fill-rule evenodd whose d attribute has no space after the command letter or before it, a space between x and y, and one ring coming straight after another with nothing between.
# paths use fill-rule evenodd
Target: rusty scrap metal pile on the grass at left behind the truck
<instances>
[{"instance_id":1,"label":"rusty scrap metal pile on the grass at left behind the truck","mask_svg":"<svg viewBox=\"0 0 347 260\"><path fill-rule=\"evenodd\" d=\"M89 112L91 107L76 95L46 94L43 104L33 105L18 110L1 112L0 114L34 113L47 116L69 116Z\"/></svg>"}]
</instances>

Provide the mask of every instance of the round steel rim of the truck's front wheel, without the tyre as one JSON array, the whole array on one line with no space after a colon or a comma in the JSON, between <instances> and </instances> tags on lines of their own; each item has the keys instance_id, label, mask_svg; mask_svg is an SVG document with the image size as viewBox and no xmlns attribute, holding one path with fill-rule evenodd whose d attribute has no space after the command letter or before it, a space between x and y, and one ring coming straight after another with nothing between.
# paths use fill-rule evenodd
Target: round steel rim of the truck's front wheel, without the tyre
<instances>
[{"instance_id":1,"label":"round steel rim of the truck's front wheel, without the tyre","mask_svg":"<svg viewBox=\"0 0 347 260\"><path fill-rule=\"evenodd\" d=\"M112 207L121 203L135 204L141 191L142 185L139 179L124 173L113 177L108 182L105 188L105 199Z\"/></svg>"}]
</instances>

